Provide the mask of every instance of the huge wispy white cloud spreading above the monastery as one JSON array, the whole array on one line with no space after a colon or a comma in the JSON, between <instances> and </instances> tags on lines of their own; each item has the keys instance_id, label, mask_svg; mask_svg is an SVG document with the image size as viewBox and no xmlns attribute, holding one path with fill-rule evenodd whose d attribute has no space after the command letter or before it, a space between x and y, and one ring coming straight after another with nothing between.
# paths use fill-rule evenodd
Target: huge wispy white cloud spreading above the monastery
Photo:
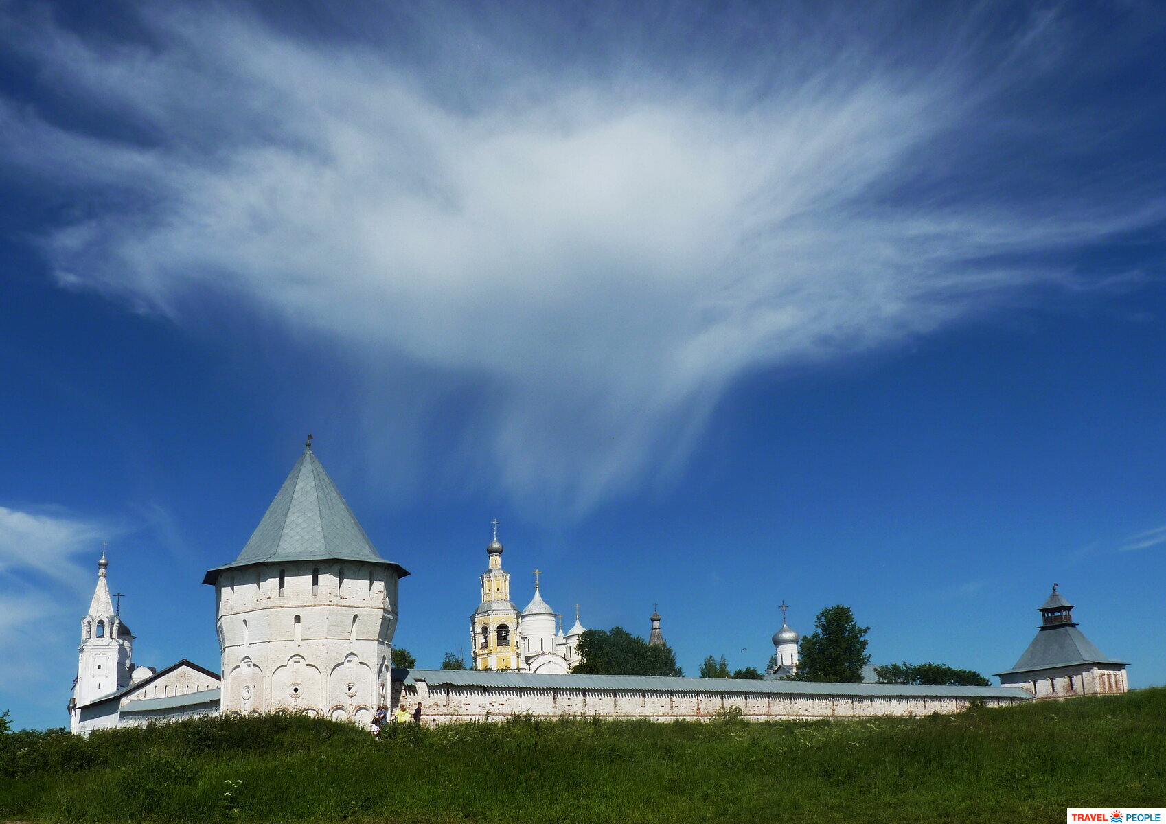
<instances>
[{"instance_id":1,"label":"huge wispy white cloud spreading above the monastery","mask_svg":"<svg viewBox=\"0 0 1166 824\"><path fill-rule=\"evenodd\" d=\"M1166 213L1135 169L1058 182L1059 153L1103 140L1058 142L1068 110L993 117L1076 59L1055 13L898 47L871 19L831 21L845 44L786 20L778 44L680 69L612 54L635 21L592 29L590 62L517 19L429 21L428 61L222 9L143 22L149 45L8 27L61 97L122 126L0 106L0 156L83 193L44 237L61 282L180 323L229 298L336 341L373 441L472 443L455 473L560 510L682 465L749 371L1081 288L1041 255ZM466 386L456 429L421 435Z\"/></svg>"}]
</instances>

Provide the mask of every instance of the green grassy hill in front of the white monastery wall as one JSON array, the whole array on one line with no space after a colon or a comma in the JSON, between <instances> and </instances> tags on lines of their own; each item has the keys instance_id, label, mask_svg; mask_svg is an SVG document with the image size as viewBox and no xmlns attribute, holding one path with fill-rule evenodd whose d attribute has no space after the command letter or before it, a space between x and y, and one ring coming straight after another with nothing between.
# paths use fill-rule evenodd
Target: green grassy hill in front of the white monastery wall
<instances>
[{"instance_id":1,"label":"green grassy hill in front of the white monastery wall","mask_svg":"<svg viewBox=\"0 0 1166 824\"><path fill-rule=\"evenodd\" d=\"M1166 803L1166 689L960 716L0 735L0 819L1056 822Z\"/></svg>"}]
</instances>

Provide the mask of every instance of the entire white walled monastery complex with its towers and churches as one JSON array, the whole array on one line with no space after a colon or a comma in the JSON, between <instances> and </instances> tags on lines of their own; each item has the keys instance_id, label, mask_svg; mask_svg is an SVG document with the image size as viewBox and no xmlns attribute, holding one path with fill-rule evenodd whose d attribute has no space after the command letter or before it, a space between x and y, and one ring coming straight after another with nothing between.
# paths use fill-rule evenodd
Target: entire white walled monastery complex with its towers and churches
<instances>
[{"instance_id":1,"label":"entire white walled monastery complex with its towers and churches","mask_svg":"<svg viewBox=\"0 0 1166 824\"><path fill-rule=\"evenodd\" d=\"M538 579L521 611L511 601L503 545L486 547L482 601L470 615L473 669L393 669L398 585L408 575L382 558L328 477L310 438L234 561L206 572L215 587L222 659L136 665L134 636L108 587L103 552L80 621L77 681L69 703L77 733L198 714L296 712L367 724L377 706L422 704L434 723L531 713L612 718L707 718L730 709L752 719L958 712L1033 697L1128 689L1125 664L1081 635L1054 592L1044 624L1002 686L814 684L785 681L798 668L798 633L774 634L765 679L569 675L584 627L563 632ZM660 614L649 643L662 645Z\"/></svg>"}]
</instances>

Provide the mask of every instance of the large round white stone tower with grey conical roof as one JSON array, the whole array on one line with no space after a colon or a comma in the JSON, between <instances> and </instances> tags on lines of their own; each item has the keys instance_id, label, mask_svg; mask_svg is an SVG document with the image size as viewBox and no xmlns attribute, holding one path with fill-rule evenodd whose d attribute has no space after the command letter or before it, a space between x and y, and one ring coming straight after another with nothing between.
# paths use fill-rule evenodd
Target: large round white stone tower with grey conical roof
<instances>
[{"instance_id":1,"label":"large round white stone tower with grey conical roof","mask_svg":"<svg viewBox=\"0 0 1166 824\"><path fill-rule=\"evenodd\" d=\"M206 573L223 713L366 723L391 690L398 582L311 451L311 436L239 557Z\"/></svg>"}]
</instances>

